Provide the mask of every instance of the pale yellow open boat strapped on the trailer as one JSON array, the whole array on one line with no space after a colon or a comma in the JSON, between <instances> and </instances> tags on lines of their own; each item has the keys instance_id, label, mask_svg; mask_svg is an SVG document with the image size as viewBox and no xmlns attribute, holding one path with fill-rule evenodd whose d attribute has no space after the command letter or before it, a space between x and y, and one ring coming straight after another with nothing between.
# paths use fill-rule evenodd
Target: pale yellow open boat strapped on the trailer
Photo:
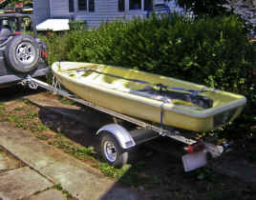
<instances>
[{"instance_id":1,"label":"pale yellow open boat strapped on the trailer","mask_svg":"<svg viewBox=\"0 0 256 200\"><path fill-rule=\"evenodd\" d=\"M243 110L244 96L175 78L114 66L55 62L67 90L99 107L184 130L214 130Z\"/></svg>"}]
</instances>

